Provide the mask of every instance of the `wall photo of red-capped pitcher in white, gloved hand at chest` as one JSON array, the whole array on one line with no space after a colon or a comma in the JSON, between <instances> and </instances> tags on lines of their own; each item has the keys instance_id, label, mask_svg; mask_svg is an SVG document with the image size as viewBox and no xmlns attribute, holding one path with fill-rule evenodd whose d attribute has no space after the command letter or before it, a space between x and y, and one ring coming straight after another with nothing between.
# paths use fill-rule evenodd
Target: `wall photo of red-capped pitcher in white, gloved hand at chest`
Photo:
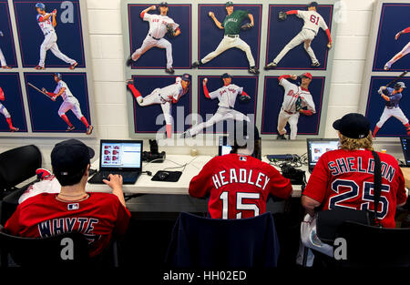
<instances>
[{"instance_id":1,"label":"wall photo of red-capped pitcher in white, gloved hand at chest","mask_svg":"<svg viewBox=\"0 0 410 285\"><path fill-rule=\"evenodd\" d=\"M261 134L276 139L317 136L323 116L325 77L265 76Z\"/></svg>"}]
</instances>

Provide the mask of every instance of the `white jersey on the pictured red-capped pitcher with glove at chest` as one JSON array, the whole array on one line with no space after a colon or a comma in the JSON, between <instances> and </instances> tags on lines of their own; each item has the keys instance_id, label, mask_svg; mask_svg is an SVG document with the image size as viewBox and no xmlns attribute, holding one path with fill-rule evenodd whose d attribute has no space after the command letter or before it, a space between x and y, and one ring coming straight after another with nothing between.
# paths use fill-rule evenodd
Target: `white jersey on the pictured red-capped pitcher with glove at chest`
<instances>
[{"instance_id":1,"label":"white jersey on the pictured red-capped pitcher with glove at chest","mask_svg":"<svg viewBox=\"0 0 410 285\"><path fill-rule=\"evenodd\" d=\"M302 98L302 107L307 107L308 110L311 110L313 113L316 113L314 107L314 102L312 95L309 91L303 90L302 87L298 87L295 84L292 84L288 80L282 78L279 83L284 88L284 97L282 108L287 112L296 113L296 100L298 97Z\"/></svg>"}]
</instances>

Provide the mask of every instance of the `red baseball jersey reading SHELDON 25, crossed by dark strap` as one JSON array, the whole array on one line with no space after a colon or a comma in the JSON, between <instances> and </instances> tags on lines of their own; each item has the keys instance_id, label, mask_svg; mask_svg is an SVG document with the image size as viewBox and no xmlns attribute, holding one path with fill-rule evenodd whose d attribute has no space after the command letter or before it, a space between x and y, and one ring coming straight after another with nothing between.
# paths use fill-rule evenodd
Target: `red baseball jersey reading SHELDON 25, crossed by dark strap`
<instances>
[{"instance_id":1,"label":"red baseball jersey reading SHELDON 25, crossed by dark strap","mask_svg":"<svg viewBox=\"0 0 410 285\"><path fill-rule=\"evenodd\" d=\"M395 158L378 154L382 162L382 192L377 217L385 228L395 228L396 205L407 198L405 178ZM323 209L374 210L372 152L337 149L324 153L302 194L322 203Z\"/></svg>"}]
</instances>

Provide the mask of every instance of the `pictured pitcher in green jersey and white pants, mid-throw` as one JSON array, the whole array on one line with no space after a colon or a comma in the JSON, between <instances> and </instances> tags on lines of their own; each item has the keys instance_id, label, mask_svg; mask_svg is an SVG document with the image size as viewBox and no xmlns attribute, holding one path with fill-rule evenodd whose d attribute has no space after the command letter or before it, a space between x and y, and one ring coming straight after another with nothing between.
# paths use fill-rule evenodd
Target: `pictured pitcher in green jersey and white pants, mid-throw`
<instances>
[{"instance_id":1,"label":"pictured pitcher in green jersey and white pants, mid-throw","mask_svg":"<svg viewBox=\"0 0 410 285\"><path fill-rule=\"evenodd\" d=\"M253 15L243 10L233 11L233 3L231 1L227 2L225 4L225 7L228 15L225 16L225 19L222 23L218 21L213 12L210 12L208 14L212 18L215 25L217 25L221 30L224 30L225 36L223 36L222 40L220 41L220 45L213 52L211 52L208 56L200 59L199 61L194 62L192 64L192 67L202 66L216 56L219 56L227 49L236 47L245 52L250 66L249 72L257 75L259 74L259 70L255 66L255 60L252 56L251 46L245 43L245 41L243 41L239 35L241 28L249 29L254 25ZM243 21L247 18L251 20L251 23L242 25Z\"/></svg>"}]
</instances>

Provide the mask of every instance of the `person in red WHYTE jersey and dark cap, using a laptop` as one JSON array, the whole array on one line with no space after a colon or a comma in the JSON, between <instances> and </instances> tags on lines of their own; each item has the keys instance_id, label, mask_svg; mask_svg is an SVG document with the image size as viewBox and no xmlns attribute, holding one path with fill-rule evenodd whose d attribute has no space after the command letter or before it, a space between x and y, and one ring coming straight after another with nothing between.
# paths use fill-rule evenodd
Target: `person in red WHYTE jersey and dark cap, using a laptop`
<instances>
[{"instance_id":1,"label":"person in red WHYTE jersey and dark cap, using a laptop","mask_svg":"<svg viewBox=\"0 0 410 285\"><path fill-rule=\"evenodd\" d=\"M90 257L101 253L113 236L125 234L130 213L122 192L122 177L110 175L104 180L112 194L86 192L93 157L94 150L77 139L56 144L51 164L61 184L60 192L27 198L7 220L5 230L25 238L78 231L88 240Z\"/></svg>"}]
</instances>

